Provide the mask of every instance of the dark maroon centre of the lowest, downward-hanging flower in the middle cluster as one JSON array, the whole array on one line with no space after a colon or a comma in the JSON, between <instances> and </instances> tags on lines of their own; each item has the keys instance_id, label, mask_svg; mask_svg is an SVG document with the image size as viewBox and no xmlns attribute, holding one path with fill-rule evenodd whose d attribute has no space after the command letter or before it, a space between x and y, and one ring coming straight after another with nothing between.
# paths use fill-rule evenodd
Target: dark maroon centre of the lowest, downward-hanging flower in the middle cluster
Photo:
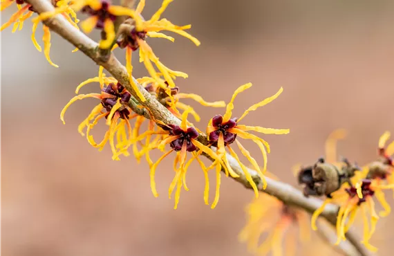
<instances>
[{"instance_id":1,"label":"dark maroon centre of the lowest, downward-hanging flower in the middle cluster","mask_svg":"<svg viewBox=\"0 0 394 256\"><path fill-rule=\"evenodd\" d=\"M191 139L198 137L198 131L194 127L187 128L186 131L182 130L178 125L170 125L169 134L171 136L180 136L176 140L170 143L170 146L175 151L180 151L182 149L183 143L186 142L186 151L194 152L196 151L196 146L191 143Z\"/></svg>"}]
</instances>

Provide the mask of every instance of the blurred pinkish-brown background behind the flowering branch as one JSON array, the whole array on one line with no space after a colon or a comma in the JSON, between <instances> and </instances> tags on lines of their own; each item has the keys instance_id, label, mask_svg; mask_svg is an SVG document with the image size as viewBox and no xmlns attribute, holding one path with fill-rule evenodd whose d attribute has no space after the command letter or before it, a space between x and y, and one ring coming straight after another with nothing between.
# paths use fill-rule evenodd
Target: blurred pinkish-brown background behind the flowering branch
<instances>
[{"instance_id":1,"label":"blurred pinkish-brown background behind the flowering branch","mask_svg":"<svg viewBox=\"0 0 394 256\"><path fill-rule=\"evenodd\" d=\"M144 13L160 3L148 0ZM10 9L1 12L2 24ZM236 99L239 115L283 86L279 99L245 118L250 125L291 129L287 136L263 137L272 145L269 170L283 181L297 185L292 165L314 163L334 129L349 132L339 154L360 164L375 159L384 131L394 131L394 1L178 0L164 17L193 24L190 32L202 42L149 39L162 62L189 74L176 81L182 91L228 101L239 85L252 82ZM15 34L11 28L0 34L4 255L249 255L237 235L253 192L223 179L221 200L211 210L203 203L203 173L193 165L190 191L182 191L173 210L169 160L158 170L160 196L154 198L146 163L111 161L108 148L97 152L77 133L97 102L79 101L66 113L66 125L59 120L75 86L97 75L98 67L53 33L51 57L60 66L53 68L32 45L30 31L27 21ZM134 74L147 73L135 63ZM201 129L223 112L194 107ZM392 216L379 221L372 239L377 255L391 255L393 228Z\"/></svg>"}]
</instances>

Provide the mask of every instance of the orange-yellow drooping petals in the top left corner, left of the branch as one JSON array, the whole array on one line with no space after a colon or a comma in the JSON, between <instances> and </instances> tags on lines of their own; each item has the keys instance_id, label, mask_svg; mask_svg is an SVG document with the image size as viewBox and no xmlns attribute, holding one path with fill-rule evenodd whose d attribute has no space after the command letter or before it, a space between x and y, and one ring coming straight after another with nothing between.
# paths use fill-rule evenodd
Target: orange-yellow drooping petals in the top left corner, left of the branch
<instances>
[{"instance_id":1,"label":"orange-yellow drooping petals in the top left corner, left of the branch","mask_svg":"<svg viewBox=\"0 0 394 256\"><path fill-rule=\"evenodd\" d=\"M10 6L13 2L14 2L13 0L12 1L10 1L10 0L3 1L1 3L0 11L8 8L8 6ZM22 5L25 4L24 1L17 0L16 3L17 3L18 11L15 12L11 16L11 18L0 27L0 31L3 30L4 28L7 28L11 24L14 24L14 26L12 28L12 33L15 33L15 31L18 29L18 27L19 27L19 30L21 30L24 26L24 21L26 21L26 19L28 19L29 17L31 17L33 15L34 11L32 10L32 6L30 6L30 4L26 4L24 7L22 7ZM59 0L59 1L56 1L56 5L59 8L62 8L61 9L62 11L58 12L58 13L62 14L62 16L65 17L68 22L70 22L73 26L77 27L77 23L78 23L77 16L75 15L75 12L71 8L69 8L68 2L64 1L64 0ZM38 26L40 20L38 20L37 18L34 18L34 19L32 19L32 21L33 21L33 26L32 26L31 39L32 39L33 44L35 45L35 48L37 48L37 50L39 52L41 52L41 46L39 46L39 44L37 43L37 40L35 39L35 31L37 30L37 26ZM45 25L43 25L43 30L44 30L44 36L42 37L42 41L44 42L44 55L46 57L46 60L48 60L49 64L52 66L55 66L57 68L59 66L54 64L50 60L50 56L49 56L49 53L50 53L50 30Z\"/></svg>"}]
</instances>

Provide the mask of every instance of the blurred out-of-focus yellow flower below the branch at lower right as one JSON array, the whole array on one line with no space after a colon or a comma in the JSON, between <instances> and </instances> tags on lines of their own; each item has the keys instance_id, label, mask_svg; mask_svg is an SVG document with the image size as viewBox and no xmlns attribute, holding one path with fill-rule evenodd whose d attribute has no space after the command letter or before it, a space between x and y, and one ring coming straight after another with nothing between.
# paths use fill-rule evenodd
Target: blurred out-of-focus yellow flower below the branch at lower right
<instances>
[{"instance_id":1,"label":"blurred out-of-focus yellow flower below the branch at lower right","mask_svg":"<svg viewBox=\"0 0 394 256\"><path fill-rule=\"evenodd\" d=\"M247 243L250 253L293 255L298 240L301 243L310 240L308 213L285 205L274 196L261 194L247 205L246 212L247 223L238 237ZM265 233L268 237L261 241Z\"/></svg>"}]
</instances>

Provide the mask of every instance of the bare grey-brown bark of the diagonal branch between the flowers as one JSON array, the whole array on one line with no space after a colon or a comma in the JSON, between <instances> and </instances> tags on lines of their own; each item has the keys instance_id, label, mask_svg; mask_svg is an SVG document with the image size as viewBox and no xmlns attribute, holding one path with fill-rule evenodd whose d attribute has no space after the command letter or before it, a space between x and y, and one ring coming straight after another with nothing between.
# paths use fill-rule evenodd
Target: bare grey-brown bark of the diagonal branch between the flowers
<instances>
[{"instance_id":1,"label":"bare grey-brown bark of the diagonal branch between the flowers","mask_svg":"<svg viewBox=\"0 0 394 256\"><path fill-rule=\"evenodd\" d=\"M47 0L26 0L26 2L30 3L34 10L38 13L48 12L54 10L53 5L50 1ZM74 26L72 26L64 17L61 15L57 15L51 19L44 21L44 24L53 30L58 35L62 36L68 42L73 44L75 47L79 48L79 51L82 51L84 55L90 57L93 62L96 64L103 66L106 71L111 73L116 80L118 80L130 93L133 95L134 99L131 99L129 105L133 111L136 113L143 115L147 118L154 118L155 120L159 120L169 125L180 125L180 120L173 116L173 114L160 102L153 98L153 96L148 93L138 82L133 78L135 84L137 84L139 91L144 95L147 99L145 102L139 102L138 96L131 87L129 82L129 75L127 74L126 68L119 62L119 60L110 53L109 56L103 58L100 55L100 51L98 48L98 44L94 42L91 38L87 37L81 31L77 30ZM137 103L138 102L138 103ZM141 108L140 106L144 107ZM149 111L147 111L149 109ZM198 140L201 143L207 145L207 136L205 134L200 134ZM239 177L234 178L235 181L241 183L245 186L245 188L250 188L250 183L246 180L245 174L243 173L241 166L238 162L229 154L227 154L227 158L229 160L229 164L231 165L234 172L236 172ZM283 201L283 203L288 205L293 205L298 208L302 208L307 212L314 212L321 205L322 201L316 198L306 198L303 196L301 191L296 188L288 185L286 183L282 183L280 181L275 181L273 179L266 178L268 186L265 190L263 190L263 183L259 174L256 171L248 169L250 174L252 175L252 179L256 183L257 187L261 192L268 193L272 196L275 196L277 199ZM337 221L337 212L338 207L336 205L327 205L326 209L321 213L321 217L325 218L329 223L335 226ZM356 238L353 232L348 232L346 234L346 238L353 244L354 248L357 250L359 255L366 256L368 253L364 246L361 246L359 243L359 239ZM355 255L350 254L350 255Z\"/></svg>"}]
</instances>

